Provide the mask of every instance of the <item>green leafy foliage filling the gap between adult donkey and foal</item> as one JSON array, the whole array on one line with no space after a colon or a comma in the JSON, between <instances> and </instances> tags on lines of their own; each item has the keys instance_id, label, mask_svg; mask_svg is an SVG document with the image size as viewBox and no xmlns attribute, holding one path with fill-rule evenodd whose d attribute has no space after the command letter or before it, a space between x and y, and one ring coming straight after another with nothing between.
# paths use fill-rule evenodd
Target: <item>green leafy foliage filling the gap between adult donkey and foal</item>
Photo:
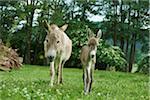
<instances>
[{"instance_id":1,"label":"green leafy foliage filling the gap between adult donkey and foal","mask_svg":"<svg viewBox=\"0 0 150 100\"><path fill-rule=\"evenodd\" d=\"M72 39L72 55L70 58L70 67L81 67L80 66L80 49L87 43L87 25L84 22L78 21L78 23L72 20L69 23L70 27L67 31L67 35Z\"/></svg>"}]
</instances>

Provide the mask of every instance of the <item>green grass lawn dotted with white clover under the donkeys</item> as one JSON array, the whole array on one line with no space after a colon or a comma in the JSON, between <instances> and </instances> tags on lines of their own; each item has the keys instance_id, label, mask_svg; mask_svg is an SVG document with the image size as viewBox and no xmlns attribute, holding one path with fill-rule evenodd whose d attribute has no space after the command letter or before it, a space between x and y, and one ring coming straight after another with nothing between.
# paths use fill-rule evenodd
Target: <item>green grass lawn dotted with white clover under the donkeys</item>
<instances>
[{"instance_id":1,"label":"green grass lawn dotted with white clover under the donkeys","mask_svg":"<svg viewBox=\"0 0 150 100\"><path fill-rule=\"evenodd\" d=\"M49 86L49 68L24 65L0 72L0 100L149 100L147 75L95 71L92 93L83 94L82 70L64 68L64 84Z\"/></svg>"}]
</instances>

